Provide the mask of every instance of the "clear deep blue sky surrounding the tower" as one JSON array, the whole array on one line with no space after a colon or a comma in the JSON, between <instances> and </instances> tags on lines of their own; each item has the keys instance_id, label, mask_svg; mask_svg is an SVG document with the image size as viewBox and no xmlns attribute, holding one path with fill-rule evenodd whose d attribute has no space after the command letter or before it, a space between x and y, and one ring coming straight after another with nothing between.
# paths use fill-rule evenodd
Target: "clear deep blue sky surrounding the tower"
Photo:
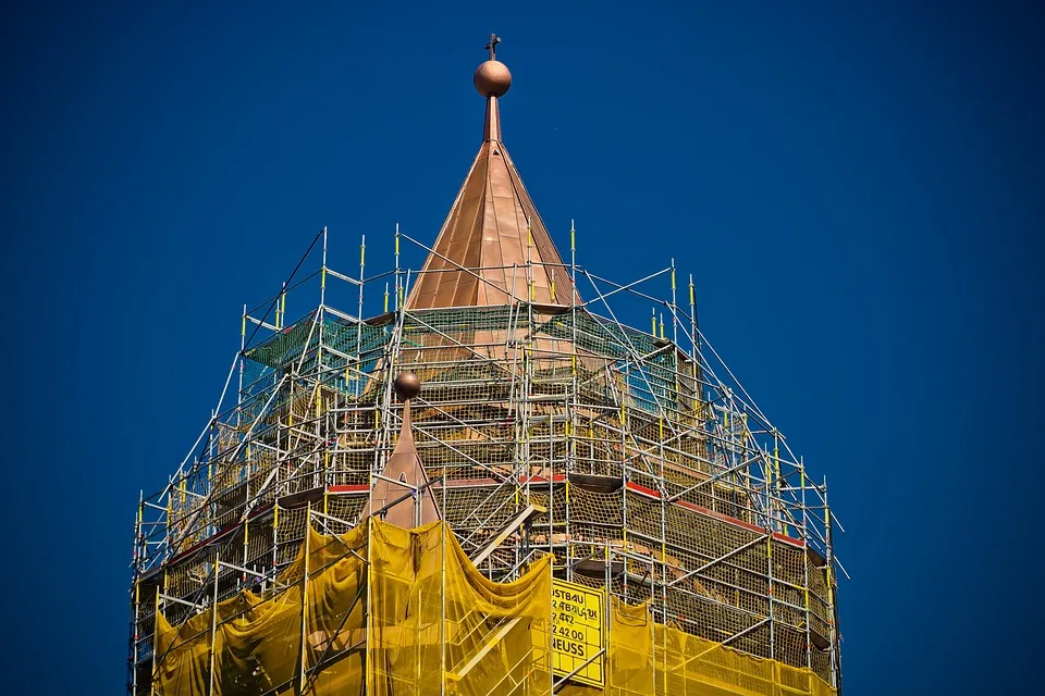
<instances>
[{"instance_id":1,"label":"clear deep blue sky surrounding the tower","mask_svg":"<svg viewBox=\"0 0 1045 696\"><path fill-rule=\"evenodd\" d=\"M434 238L495 30L560 247L576 219L601 275L691 271L702 328L827 476L846 693L1020 693L1043 29L1033 2L9 5L11 691L123 688L138 489L206 422L242 304L323 225L346 270L360 234L374 269L395 223Z\"/></svg>"}]
</instances>

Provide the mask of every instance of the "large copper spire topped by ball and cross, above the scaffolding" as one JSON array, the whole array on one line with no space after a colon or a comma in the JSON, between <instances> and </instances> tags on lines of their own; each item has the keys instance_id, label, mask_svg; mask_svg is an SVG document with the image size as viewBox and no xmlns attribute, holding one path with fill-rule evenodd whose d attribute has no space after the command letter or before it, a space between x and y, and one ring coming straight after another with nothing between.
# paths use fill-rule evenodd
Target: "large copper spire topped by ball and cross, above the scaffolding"
<instances>
[{"instance_id":1,"label":"large copper spire topped by ball and cross, above the scaffolding","mask_svg":"<svg viewBox=\"0 0 1045 696\"><path fill-rule=\"evenodd\" d=\"M512 73L496 60L500 42L490 35L490 59L472 79L487 100L482 146L410 289L407 309L570 303L570 275L501 142L497 100L512 87Z\"/></svg>"}]
</instances>

